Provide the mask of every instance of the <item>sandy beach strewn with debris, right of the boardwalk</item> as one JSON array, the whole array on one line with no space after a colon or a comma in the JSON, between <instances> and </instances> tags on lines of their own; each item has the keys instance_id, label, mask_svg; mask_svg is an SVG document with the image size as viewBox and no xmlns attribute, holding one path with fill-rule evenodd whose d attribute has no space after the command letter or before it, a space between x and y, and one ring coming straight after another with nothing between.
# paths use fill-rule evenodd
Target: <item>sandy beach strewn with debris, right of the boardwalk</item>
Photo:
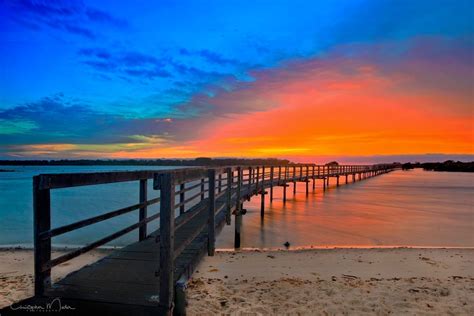
<instances>
[{"instance_id":1,"label":"sandy beach strewn with debris, right of the boardwalk","mask_svg":"<svg viewBox=\"0 0 474 316\"><path fill-rule=\"evenodd\" d=\"M474 315L474 250L217 252L187 294L191 315Z\"/></svg>"}]
</instances>

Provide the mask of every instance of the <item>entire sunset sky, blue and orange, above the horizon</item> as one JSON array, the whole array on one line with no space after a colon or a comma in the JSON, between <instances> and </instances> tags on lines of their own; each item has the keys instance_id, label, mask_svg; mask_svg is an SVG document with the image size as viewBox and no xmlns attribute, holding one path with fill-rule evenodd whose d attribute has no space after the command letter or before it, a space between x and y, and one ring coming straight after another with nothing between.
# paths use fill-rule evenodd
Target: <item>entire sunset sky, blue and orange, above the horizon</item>
<instances>
[{"instance_id":1,"label":"entire sunset sky, blue and orange, above the horizon","mask_svg":"<svg viewBox=\"0 0 474 316\"><path fill-rule=\"evenodd\" d=\"M0 159L474 160L474 2L0 0Z\"/></svg>"}]
</instances>

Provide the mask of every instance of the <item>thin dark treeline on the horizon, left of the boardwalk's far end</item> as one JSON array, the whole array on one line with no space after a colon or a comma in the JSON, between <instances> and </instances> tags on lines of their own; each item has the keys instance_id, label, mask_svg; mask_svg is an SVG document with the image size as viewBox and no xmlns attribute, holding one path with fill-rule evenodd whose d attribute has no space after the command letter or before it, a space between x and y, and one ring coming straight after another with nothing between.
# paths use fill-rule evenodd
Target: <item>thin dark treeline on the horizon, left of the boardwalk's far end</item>
<instances>
[{"instance_id":1,"label":"thin dark treeline on the horizon, left of the boardwalk's far end","mask_svg":"<svg viewBox=\"0 0 474 316\"><path fill-rule=\"evenodd\" d=\"M196 159L80 159L80 160L0 160L5 166L245 166L287 165L286 159L196 158Z\"/></svg>"}]
</instances>

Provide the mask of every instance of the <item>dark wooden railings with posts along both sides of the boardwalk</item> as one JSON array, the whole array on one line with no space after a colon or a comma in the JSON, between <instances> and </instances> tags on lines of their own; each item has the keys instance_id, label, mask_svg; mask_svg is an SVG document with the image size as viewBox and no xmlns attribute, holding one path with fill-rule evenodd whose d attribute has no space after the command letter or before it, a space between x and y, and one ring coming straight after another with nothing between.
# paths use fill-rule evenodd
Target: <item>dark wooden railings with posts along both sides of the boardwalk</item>
<instances>
[{"instance_id":1,"label":"dark wooden railings with posts along both sides of the boardwalk","mask_svg":"<svg viewBox=\"0 0 474 316\"><path fill-rule=\"evenodd\" d=\"M283 202L286 201L288 183L323 179L326 187L329 177L358 174L376 175L391 171L393 165L284 165L284 166L245 166L224 168L185 168L162 171L103 172L42 174L33 178L34 197L34 247L35 247L35 295L41 296L51 285L51 269L94 248L103 246L133 230L139 230L139 240L149 236L147 224L160 219L160 304L171 306L174 290L174 260L203 231L207 230L208 254L215 249L216 214L224 211L225 222L230 224L231 214L235 215L235 245L240 246L240 226L242 222L243 201L253 195L262 196L262 216L266 189L283 187ZM148 180L153 179L153 188L159 190L159 197L148 199ZM51 190L77 186L105 185L117 182L136 181L139 187L138 203L118 210L106 212L61 227L51 228ZM148 216L147 208L160 204L157 214ZM108 219L138 210L138 221L79 249L51 259L52 238ZM192 222L196 217L206 214L207 221L189 232L185 240L175 247L175 232Z\"/></svg>"}]
</instances>

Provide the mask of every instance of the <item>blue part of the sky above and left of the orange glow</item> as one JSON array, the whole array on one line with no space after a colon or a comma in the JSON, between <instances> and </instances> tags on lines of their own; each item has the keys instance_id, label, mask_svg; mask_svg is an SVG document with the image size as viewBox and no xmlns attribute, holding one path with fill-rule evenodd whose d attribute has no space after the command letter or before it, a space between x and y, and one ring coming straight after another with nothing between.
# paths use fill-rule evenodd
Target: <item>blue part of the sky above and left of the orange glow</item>
<instances>
[{"instance_id":1,"label":"blue part of the sky above and left of the orange glow","mask_svg":"<svg viewBox=\"0 0 474 316\"><path fill-rule=\"evenodd\" d=\"M454 43L472 67L473 11L472 1L439 0L1 0L0 157L189 147L204 117L262 111L213 104L256 74L362 55L393 70L420 38Z\"/></svg>"}]
</instances>

